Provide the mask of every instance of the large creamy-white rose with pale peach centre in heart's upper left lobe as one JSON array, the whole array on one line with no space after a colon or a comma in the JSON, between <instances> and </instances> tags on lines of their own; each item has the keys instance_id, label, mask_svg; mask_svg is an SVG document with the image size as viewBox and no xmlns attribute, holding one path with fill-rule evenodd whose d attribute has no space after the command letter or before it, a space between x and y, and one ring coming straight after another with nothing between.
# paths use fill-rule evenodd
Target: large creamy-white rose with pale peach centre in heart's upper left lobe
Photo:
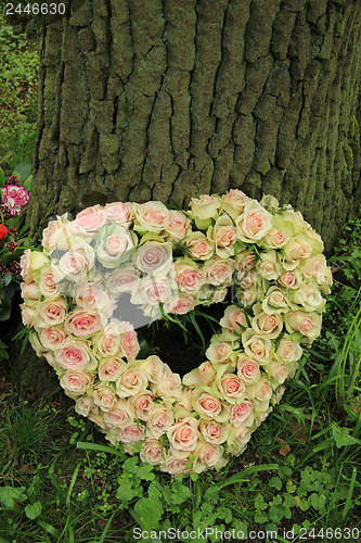
<instances>
[{"instance_id":1,"label":"large creamy-white rose with pale peach centre in heart's upper left lobe","mask_svg":"<svg viewBox=\"0 0 361 543\"><path fill-rule=\"evenodd\" d=\"M114 228L103 228L100 243L96 247L99 262L105 268L114 268L120 264L126 253L133 249L129 231L116 225Z\"/></svg>"}]
</instances>

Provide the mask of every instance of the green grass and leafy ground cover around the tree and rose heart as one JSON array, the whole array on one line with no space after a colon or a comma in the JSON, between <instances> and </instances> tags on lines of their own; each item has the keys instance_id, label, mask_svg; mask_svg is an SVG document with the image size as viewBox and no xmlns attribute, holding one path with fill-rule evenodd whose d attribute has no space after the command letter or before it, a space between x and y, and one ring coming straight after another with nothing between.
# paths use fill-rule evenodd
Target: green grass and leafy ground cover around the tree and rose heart
<instances>
[{"instance_id":1,"label":"green grass and leafy ground cover around the tree and rose heart","mask_svg":"<svg viewBox=\"0 0 361 543\"><path fill-rule=\"evenodd\" d=\"M0 156L10 152L11 166L33 152L37 58L24 25L2 25L0 47ZM359 541L360 261L361 216L330 260L335 287L322 337L247 451L218 473L171 480L108 447L61 391L35 397L2 362L0 542L118 543L171 527L179 534L151 541L190 541L185 532L198 529L220 541L216 528L234 530L229 541L250 530L248 541Z\"/></svg>"}]
</instances>

